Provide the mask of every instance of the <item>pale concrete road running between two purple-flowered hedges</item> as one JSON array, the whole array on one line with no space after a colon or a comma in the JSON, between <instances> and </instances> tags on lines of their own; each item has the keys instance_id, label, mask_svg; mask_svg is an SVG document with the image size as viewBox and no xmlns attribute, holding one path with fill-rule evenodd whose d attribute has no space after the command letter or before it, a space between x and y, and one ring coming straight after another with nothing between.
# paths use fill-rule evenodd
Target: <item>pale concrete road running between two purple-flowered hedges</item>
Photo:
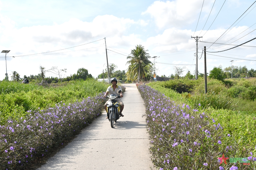
<instances>
[{"instance_id":1,"label":"pale concrete road running between two purple-flowered hedges","mask_svg":"<svg viewBox=\"0 0 256 170\"><path fill-rule=\"evenodd\" d=\"M43 169L150 169L149 140L146 131L144 102L136 84L124 84L124 117L111 128L103 113L66 147L61 149Z\"/></svg>"}]
</instances>

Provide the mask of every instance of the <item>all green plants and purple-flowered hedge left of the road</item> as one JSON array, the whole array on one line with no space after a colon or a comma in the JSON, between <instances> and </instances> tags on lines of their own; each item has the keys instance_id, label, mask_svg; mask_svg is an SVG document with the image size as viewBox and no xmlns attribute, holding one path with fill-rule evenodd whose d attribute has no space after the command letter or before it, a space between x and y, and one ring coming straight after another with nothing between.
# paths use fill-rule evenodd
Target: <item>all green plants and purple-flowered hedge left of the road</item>
<instances>
[{"instance_id":1,"label":"all green plants and purple-flowered hedge left of the road","mask_svg":"<svg viewBox=\"0 0 256 170\"><path fill-rule=\"evenodd\" d=\"M108 86L95 79L48 86L0 82L0 169L45 162L101 115Z\"/></svg>"}]
</instances>

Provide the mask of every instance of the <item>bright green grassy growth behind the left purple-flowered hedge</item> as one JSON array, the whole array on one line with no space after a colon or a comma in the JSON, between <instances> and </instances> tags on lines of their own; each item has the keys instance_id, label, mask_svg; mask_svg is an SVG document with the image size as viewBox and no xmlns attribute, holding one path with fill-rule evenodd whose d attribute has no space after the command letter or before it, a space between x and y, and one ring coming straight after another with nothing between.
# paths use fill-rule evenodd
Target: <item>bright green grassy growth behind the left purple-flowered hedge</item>
<instances>
[{"instance_id":1,"label":"bright green grassy growth behind the left purple-flowered hedge","mask_svg":"<svg viewBox=\"0 0 256 170\"><path fill-rule=\"evenodd\" d=\"M42 87L36 84L16 82L0 83L0 124L7 119L26 115L28 110L38 110L55 106L61 101L74 103L89 96L106 91L108 84L94 79L70 81L64 86Z\"/></svg>"}]
</instances>

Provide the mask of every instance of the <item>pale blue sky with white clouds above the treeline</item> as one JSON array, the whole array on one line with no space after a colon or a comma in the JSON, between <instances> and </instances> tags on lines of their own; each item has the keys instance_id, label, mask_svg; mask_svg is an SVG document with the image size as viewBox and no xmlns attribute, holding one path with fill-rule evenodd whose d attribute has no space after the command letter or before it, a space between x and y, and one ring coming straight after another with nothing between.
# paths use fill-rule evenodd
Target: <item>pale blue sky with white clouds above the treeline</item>
<instances>
[{"instance_id":1,"label":"pale blue sky with white clouds above the treeline","mask_svg":"<svg viewBox=\"0 0 256 170\"><path fill-rule=\"evenodd\" d=\"M126 70L127 56L142 45L158 57L157 75L175 74L174 66L194 73L196 36L202 37L199 73L204 46L207 73L231 64L256 70L255 6L253 0L0 0L0 51L10 50L6 60L0 53L0 80L6 67L11 80L14 71L22 78L39 74L40 66L67 69L63 76L85 68L96 78L107 67L105 39L108 63L117 70Z\"/></svg>"}]
</instances>

